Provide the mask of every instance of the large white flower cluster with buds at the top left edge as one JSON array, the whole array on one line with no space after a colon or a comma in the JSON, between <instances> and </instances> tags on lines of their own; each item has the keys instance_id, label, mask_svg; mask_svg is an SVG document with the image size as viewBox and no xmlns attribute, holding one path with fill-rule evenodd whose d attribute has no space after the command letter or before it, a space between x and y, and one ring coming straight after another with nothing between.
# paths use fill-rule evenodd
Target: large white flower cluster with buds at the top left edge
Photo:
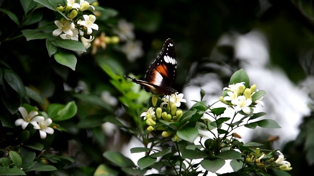
<instances>
[{"instance_id":1,"label":"large white flower cluster with buds at the top left edge","mask_svg":"<svg viewBox=\"0 0 314 176\"><path fill-rule=\"evenodd\" d=\"M65 6L57 7L57 10L61 12L63 18L54 21L54 24L58 27L52 32L53 36L59 36L64 40L75 40L80 42L85 46L85 48L90 47L90 43L94 40L92 34L93 29L98 30L98 25L94 22L96 21L95 15L86 15L84 11L89 7L95 10L95 8L85 0L67 0ZM79 15L78 15L79 14ZM61 34L62 33L62 34ZM87 38L84 37L86 33Z\"/></svg>"}]
</instances>

